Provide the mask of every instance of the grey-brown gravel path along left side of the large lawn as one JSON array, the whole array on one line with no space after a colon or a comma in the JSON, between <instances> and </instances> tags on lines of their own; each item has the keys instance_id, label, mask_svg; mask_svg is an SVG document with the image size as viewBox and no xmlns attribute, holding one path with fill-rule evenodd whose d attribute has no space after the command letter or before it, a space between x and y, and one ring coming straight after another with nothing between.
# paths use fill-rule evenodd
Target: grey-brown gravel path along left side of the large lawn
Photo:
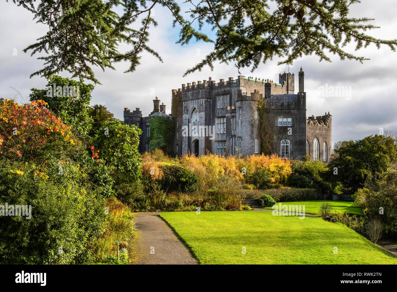
<instances>
[{"instance_id":1,"label":"grey-brown gravel path along left side of the large lawn","mask_svg":"<svg viewBox=\"0 0 397 292\"><path fill-rule=\"evenodd\" d=\"M198 264L190 250L158 212L134 213L133 263L135 264Z\"/></svg>"}]
</instances>

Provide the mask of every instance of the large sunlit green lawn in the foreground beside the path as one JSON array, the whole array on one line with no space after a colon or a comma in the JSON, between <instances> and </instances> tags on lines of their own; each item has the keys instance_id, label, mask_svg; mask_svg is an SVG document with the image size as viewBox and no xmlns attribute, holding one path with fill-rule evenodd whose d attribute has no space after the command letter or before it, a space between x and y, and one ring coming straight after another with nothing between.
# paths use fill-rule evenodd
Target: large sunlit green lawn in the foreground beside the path
<instances>
[{"instance_id":1,"label":"large sunlit green lawn in the foreground beside the path","mask_svg":"<svg viewBox=\"0 0 397 292\"><path fill-rule=\"evenodd\" d=\"M266 211L170 212L160 216L202 264L397 263L395 257L352 229L320 217L299 219Z\"/></svg>"}]
</instances>

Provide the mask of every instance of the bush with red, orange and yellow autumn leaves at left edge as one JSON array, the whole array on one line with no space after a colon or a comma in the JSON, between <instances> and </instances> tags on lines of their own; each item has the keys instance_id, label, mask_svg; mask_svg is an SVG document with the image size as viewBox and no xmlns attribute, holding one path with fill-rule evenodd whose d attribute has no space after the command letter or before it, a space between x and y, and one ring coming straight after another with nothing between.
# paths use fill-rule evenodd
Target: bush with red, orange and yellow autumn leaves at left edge
<instances>
[{"instance_id":1,"label":"bush with red, orange and yellow autumn leaves at left edge","mask_svg":"<svg viewBox=\"0 0 397 292\"><path fill-rule=\"evenodd\" d=\"M70 127L46 108L42 100L20 106L6 100L0 109L0 158L14 161L65 159L81 151ZM66 150L66 151L65 151Z\"/></svg>"}]
</instances>

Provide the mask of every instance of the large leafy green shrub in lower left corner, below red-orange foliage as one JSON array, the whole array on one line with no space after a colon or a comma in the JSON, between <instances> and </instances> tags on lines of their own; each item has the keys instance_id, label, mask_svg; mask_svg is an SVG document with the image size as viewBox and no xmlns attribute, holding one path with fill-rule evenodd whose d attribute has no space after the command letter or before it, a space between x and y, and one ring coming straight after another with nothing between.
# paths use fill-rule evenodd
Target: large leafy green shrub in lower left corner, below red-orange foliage
<instances>
[{"instance_id":1,"label":"large leafy green shrub in lower left corner, below red-orange foliage","mask_svg":"<svg viewBox=\"0 0 397 292\"><path fill-rule=\"evenodd\" d=\"M107 219L100 190L85 181L82 165L65 162L62 175L58 162L46 167L44 174L33 162L0 161L0 205L31 205L32 210L31 219L0 216L4 264L76 264L95 257L91 246Z\"/></svg>"}]
</instances>

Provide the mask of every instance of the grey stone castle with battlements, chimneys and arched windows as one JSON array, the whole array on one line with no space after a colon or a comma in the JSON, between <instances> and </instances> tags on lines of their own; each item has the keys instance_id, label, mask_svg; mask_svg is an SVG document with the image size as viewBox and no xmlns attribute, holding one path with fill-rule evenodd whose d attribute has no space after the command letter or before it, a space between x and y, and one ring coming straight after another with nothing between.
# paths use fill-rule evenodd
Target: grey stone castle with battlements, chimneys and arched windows
<instances>
[{"instance_id":1,"label":"grey stone castle with battlements, chimneys and arched windows","mask_svg":"<svg viewBox=\"0 0 397 292\"><path fill-rule=\"evenodd\" d=\"M330 161L331 115L306 117L304 71L298 73L299 88L295 93L295 74L279 74L279 82L238 76L236 80L220 79L219 83L198 81L182 84L172 90L171 114L156 97L148 117L142 111L124 108L124 123L142 129L139 152L150 149L150 117L160 115L175 119L171 149L180 156L210 152L218 155L252 155L261 153L261 143L282 158L301 159L308 153L313 160ZM264 105L266 121L260 115ZM266 123L266 127L261 125ZM262 132L261 132L262 131ZM262 144L263 144L262 143Z\"/></svg>"}]
</instances>

